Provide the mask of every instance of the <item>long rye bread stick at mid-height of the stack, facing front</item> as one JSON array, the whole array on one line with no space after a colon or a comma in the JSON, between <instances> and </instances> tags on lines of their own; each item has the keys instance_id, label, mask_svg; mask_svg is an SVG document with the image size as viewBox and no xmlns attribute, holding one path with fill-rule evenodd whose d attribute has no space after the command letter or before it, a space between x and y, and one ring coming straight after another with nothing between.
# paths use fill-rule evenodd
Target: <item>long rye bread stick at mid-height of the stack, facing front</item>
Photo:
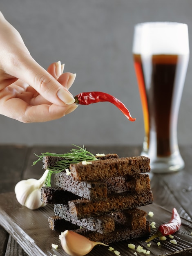
<instances>
[{"instance_id":1,"label":"long rye bread stick at mid-height of the stack, facing front","mask_svg":"<svg viewBox=\"0 0 192 256\"><path fill-rule=\"evenodd\" d=\"M69 201L69 211L73 218L87 218L101 214L134 209L147 204L152 204L153 194L151 190L143 190L141 193L111 194L105 201L92 202L87 199Z\"/></svg>"}]
</instances>

